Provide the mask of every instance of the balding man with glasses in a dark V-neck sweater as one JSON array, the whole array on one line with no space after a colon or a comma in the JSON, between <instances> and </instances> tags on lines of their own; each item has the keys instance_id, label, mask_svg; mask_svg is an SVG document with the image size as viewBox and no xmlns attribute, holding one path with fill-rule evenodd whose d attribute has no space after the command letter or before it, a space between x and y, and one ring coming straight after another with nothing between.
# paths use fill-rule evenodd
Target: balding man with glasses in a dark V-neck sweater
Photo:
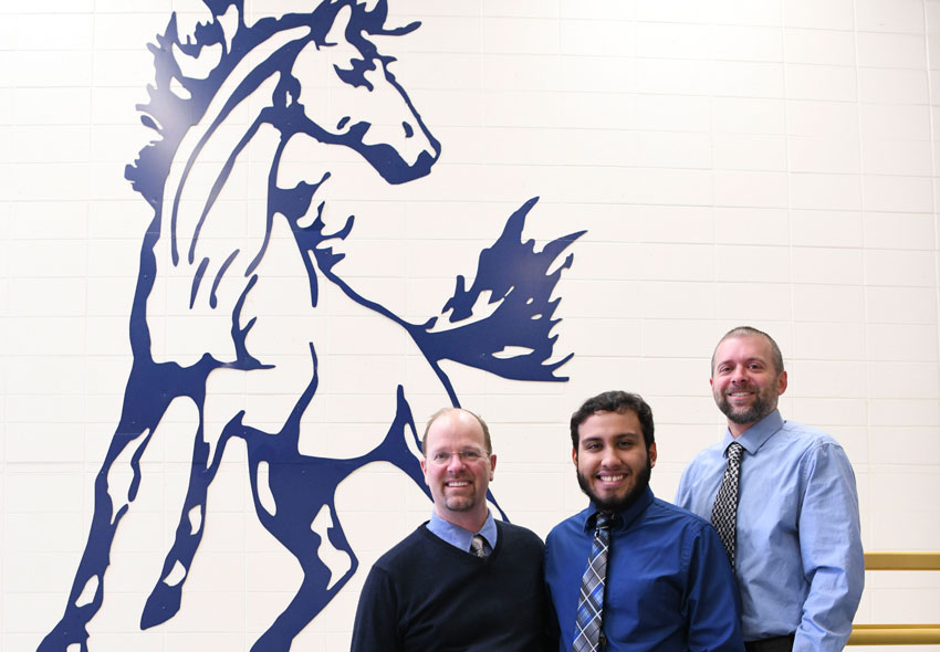
<instances>
[{"instance_id":1,"label":"balding man with glasses in a dark V-neck sweater","mask_svg":"<svg viewBox=\"0 0 940 652\"><path fill-rule=\"evenodd\" d=\"M369 571L353 652L557 649L542 540L494 520L487 507L497 456L485 422L467 410L440 410L421 448L431 519Z\"/></svg>"}]
</instances>

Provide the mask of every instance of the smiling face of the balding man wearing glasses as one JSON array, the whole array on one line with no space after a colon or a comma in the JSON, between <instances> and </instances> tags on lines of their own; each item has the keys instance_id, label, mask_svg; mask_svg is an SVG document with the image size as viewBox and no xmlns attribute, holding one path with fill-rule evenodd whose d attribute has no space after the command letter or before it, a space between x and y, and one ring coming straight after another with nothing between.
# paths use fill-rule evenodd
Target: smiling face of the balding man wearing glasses
<instances>
[{"instance_id":1,"label":"smiling face of the balding man wearing glasses","mask_svg":"<svg viewBox=\"0 0 940 652\"><path fill-rule=\"evenodd\" d=\"M483 429L476 417L450 410L431 423L421 471L438 516L478 532L487 519L487 488L495 466L497 456L487 451Z\"/></svg>"}]
</instances>

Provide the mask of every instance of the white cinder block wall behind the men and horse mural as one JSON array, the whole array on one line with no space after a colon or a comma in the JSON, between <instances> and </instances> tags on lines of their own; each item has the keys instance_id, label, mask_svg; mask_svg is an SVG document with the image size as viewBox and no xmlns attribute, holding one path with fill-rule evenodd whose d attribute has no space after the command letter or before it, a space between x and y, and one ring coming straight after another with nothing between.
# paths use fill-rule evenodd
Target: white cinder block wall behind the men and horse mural
<instances>
[{"instance_id":1,"label":"white cinder block wall behind the men and horse mural","mask_svg":"<svg viewBox=\"0 0 940 652\"><path fill-rule=\"evenodd\" d=\"M445 365L491 424L492 486L513 520L544 536L582 508L566 422L610 388L651 403L654 491L671 498L683 465L720 434L712 347L748 323L787 360L784 416L846 448L866 548L940 548L940 1L389 1L394 22L422 23L382 49L442 153L400 187L374 175L331 181L331 197L357 212L344 278L420 323L440 313L456 275L472 280L480 250L531 197L541 200L524 234L540 246L587 230L555 292L555 353L575 354L560 371L568 382ZM247 22L262 6L307 6L248 4ZM174 10L181 32L205 19L195 0L0 7L3 650L34 650L65 607L121 413L153 217L124 167L153 138L135 105L154 76L147 43ZM250 214L259 197L247 186L233 199ZM179 317L171 294L152 303L155 318ZM290 302L279 301L272 318L289 328ZM327 355L348 371L328 389L321 417L333 428L317 444L336 458L374 445L349 424L380 420L380 381L420 366L394 337L343 324ZM184 351L203 326L167 330L155 353ZM220 382L262 414L283 393L252 377ZM440 403L422 399L428 411ZM175 404L144 456L90 627L96 652L247 650L297 587L296 561L254 515L244 446L231 444L182 608L139 631L179 518L194 418L191 403ZM383 465L349 477L336 501L361 569L296 650L347 645L369 564L429 513ZM940 577L869 574L857 621L940 622Z\"/></svg>"}]
</instances>

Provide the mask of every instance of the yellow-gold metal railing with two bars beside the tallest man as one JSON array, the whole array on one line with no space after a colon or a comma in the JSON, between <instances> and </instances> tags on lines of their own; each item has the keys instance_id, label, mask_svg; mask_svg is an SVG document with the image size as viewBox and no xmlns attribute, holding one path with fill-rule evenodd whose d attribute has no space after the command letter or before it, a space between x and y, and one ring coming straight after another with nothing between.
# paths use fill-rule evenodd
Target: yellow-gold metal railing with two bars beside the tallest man
<instances>
[{"instance_id":1,"label":"yellow-gold metal railing with two bars beside the tallest man","mask_svg":"<svg viewBox=\"0 0 940 652\"><path fill-rule=\"evenodd\" d=\"M940 553L865 553L865 570L940 570ZM856 624L849 645L940 645L940 624Z\"/></svg>"}]
</instances>

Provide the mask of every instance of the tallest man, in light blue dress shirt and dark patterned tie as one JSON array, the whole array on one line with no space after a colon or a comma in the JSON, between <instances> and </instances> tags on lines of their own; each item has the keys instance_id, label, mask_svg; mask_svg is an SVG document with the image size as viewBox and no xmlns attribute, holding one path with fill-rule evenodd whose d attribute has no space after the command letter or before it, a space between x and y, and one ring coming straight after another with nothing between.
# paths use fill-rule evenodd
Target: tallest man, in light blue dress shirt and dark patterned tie
<instances>
[{"instance_id":1,"label":"tallest man, in light blue dress shirt and dark patterned tie","mask_svg":"<svg viewBox=\"0 0 940 652\"><path fill-rule=\"evenodd\" d=\"M842 650L865 581L852 464L833 438L780 416L786 371L767 334L725 334L711 387L728 429L686 469L676 502L710 517L725 450L743 446L734 572L748 650Z\"/></svg>"}]
</instances>

